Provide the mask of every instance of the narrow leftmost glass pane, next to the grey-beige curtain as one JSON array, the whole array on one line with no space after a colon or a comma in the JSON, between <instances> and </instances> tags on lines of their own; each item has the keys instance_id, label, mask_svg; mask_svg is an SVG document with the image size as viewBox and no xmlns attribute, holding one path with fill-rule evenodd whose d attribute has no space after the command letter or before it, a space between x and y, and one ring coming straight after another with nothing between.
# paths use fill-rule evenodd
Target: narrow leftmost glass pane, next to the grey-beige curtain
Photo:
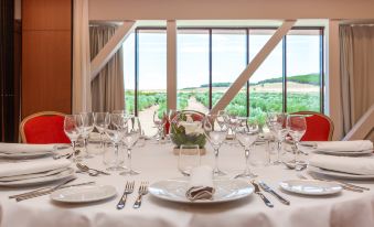
<instances>
[{"instance_id":1,"label":"narrow leftmost glass pane, next to the grey-beige curtain","mask_svg":"<svg viewBox=\"0 0 374 227\"><path fill-rule=\"evenodd\" d=\"M135 34L131 33L122 44L125 106L127 112L135 112Z\"/></svg>"}]
</instances>

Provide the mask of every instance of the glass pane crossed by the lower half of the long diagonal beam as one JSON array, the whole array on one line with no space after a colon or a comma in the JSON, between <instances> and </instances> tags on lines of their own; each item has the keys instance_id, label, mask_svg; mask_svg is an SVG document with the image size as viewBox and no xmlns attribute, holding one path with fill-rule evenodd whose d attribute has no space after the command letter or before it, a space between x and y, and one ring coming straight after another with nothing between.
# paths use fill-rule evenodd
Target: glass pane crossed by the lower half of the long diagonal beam
<instances>
[{"instance_id":1,"label":"glass pane crossed by the lower half of the long diagonal beam","mask_svg":"<svg viewBox=\"0 0 374 227\"><path fill-rule=\"evenodd\" d=\"M212 32L212 104L226 93L246 67L246 31L213 30ZM226 110L239 116L247 115L245 89L228 104Z\"/></svg>"}]
</instances>

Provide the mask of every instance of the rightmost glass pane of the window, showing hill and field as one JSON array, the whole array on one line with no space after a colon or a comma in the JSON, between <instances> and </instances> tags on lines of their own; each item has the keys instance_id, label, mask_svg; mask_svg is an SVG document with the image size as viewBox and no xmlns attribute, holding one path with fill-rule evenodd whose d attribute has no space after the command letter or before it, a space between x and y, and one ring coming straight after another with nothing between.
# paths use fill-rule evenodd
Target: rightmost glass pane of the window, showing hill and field
<instances>
[{"instance_id":1,"label":"rightmost glass pane of the window, showing hill and field","mask_svg":"<svg viewBox=\"0 0 374 227\"><path fill-rule=\"evenodd\" d=\"M287 111L320 111L319 30L287 35Z\"/></svg>"}]
</instances>

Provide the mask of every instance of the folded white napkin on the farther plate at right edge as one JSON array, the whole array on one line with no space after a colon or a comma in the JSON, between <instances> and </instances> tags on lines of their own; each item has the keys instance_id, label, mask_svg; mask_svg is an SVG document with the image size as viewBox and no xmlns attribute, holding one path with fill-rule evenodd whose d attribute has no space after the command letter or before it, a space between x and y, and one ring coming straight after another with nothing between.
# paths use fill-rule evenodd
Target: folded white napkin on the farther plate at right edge
<instances>
[{"instance_id":1,"label":"folded white napkin on the farther plate at right edge","mask_svg":"<svg viewBox=\"0 0 374 227\"><path fill-rule=\"evenodd\" d=\"M318 142L317 150L360 152L373 150L373 143L370 140Z\"/></svg>"}]
</instances>

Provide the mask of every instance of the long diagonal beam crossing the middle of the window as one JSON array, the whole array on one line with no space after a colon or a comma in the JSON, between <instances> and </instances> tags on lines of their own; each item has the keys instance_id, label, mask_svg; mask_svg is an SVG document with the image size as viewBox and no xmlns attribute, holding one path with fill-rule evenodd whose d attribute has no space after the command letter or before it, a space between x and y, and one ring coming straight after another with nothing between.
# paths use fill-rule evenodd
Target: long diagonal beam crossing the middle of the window
<instances>
[{"instance_id":1,"label":"long diagonal beam crossing the middle of the window","mask_svg":"<svg viewBox=\"0 0 374 227\"><path fill-rule=\"evenodd\" d=\"M257 53L255 58L247 65L247 67L242 72L242 74L236 78L236 80L229 86L224 96L212 108L211 110L212 114L216 114L218 112L218 110L225 109L229 101L233 100L236 94L248 82L250 76L257 71L257 68L263 64L266 57L271 53L271 51L277 46L277 44L293 26L295 23L296 20L286 20L281 24L281 26L279 26L276 33L274 33L270 40L263 46L263 48Z\"/></svg>"}]
</instances>

